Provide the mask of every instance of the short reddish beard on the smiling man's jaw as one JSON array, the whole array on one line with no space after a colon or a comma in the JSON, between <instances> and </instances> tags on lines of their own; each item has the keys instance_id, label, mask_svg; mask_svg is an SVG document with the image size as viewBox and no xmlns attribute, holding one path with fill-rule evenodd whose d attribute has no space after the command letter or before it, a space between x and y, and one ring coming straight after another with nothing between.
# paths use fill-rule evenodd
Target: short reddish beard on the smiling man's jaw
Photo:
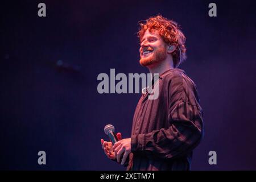
<instances>
[{"instance_id":1,"label":"short reddish beard on the smiling man's jaw","mask_svg":"<svg viewBox=\"0 0 256 182\"><path fill-rule=\"evenodd\" d=\"M147 67L149 65L162 62L163 60L166 59L166 57L167 57L166 48L165 47L160 47L160 48L156 49L156 51L152 52L151 55L149 55L147 57L142 57L141 56L141 59L139 60L139 63L143 67Z\"/></svg>"}]
</instances>

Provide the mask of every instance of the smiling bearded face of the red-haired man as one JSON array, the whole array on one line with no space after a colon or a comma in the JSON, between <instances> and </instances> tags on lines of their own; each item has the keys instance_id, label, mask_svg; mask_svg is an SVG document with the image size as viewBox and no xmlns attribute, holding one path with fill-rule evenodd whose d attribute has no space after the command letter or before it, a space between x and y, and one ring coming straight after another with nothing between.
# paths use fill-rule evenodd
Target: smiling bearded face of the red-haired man
<instances>
[{"instance_id":1,"label":"smiling bearded face of the red-haired man","mask_svg":"<svg viewBox=\"0 0 256 182\"><path fill-rule=\"evenodd\" d=\"M139 63L144 67L152 67L167 57L167 44L158 32L146 31L141 39Z\"/></svg>"}]
</instances>

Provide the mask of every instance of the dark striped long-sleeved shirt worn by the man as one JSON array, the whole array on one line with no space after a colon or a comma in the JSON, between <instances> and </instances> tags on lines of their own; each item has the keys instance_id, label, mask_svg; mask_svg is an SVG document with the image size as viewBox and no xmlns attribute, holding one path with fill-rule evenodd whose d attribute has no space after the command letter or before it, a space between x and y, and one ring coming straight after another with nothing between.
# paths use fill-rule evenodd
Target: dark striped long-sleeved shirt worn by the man
<instances>
[{"instance_id":1,"label":"dark striped long-sleeved shirt worn by the man","mask_svg":"<svg viewBox=\"0 0 256 182\"><path fill-rule=\"evenodd\" d=\"M195 83L181 69L159 75L159 97L143 94L135 109L127 170L189 170L203 137Z\"/></svg>"}]
</instances>

